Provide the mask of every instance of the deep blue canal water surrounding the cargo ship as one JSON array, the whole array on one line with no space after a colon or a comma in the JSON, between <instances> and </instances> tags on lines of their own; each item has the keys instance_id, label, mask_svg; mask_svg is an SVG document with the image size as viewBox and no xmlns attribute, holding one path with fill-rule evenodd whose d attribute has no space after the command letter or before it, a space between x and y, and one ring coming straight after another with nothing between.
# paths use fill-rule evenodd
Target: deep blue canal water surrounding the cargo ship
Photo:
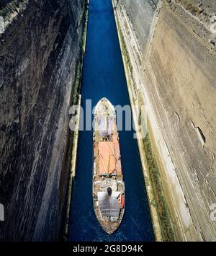
<instances>
[{"instance_id":1,"label":"deep blue canal water surrounding the cargo ship","mask_svg":"<svg viewBox=\"0 0 216 256\"><path fill-rule=\"evenodd\" d=\"M81 95L84 109L86 100L92 100L94 106L102 97L113 105L130 105L111 0L90 1ZM92 203L93 132L80 132L69 241L154 241L138 143L133 135L133 131L120 131L125 216L120 228L109 235L99 226Z\"/></svg>"}]
</instances>

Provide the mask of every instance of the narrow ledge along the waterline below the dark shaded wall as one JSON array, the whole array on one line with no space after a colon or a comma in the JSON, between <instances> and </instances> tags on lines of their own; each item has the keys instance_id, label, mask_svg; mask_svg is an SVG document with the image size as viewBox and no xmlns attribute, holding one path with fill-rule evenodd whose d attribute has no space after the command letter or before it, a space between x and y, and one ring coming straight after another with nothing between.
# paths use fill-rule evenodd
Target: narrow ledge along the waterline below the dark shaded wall
<instances>
[{"instance_id":1,"label":"narrow ledge along the waterline below the dark shaded wall","mask_svg":"<svg viewBox=\"0 0 216 256\"><path fill-rule=\"evenodd\" d=\"M76 177L76 158L77 158L77 149L78 149L78 135L79 135L79 123L80 123L80 114L81 114L81 74L83 71L83 63L84 63L84 54L86 51L86 38L87 38L87 30L88 30L88 20L89 20L89 0L85 0L85 10L84 14L81 14L84 16L84 31L82 35L82 40L81 40L81 61L77 64L77 74L76 74L76 79L75 79L75 87L76 83L78 83L78 90L76 92L76 95L72 95L72 99L76 99L78 96L78 102L76 102L78 105L78 112L76 115L76 127L75 131L73 131L73 138L72 138L72 148L71 148L71 169L70 169L70 175L69 175L69 182L68 182L68 199L67 199L67 206L66 206L66 221L65 221L65 229L64 229L64 235L63 239L67 241L68 239L68 231L69 231L69 221L70 221L70 212L71 212L71 194L72 194L72 189L73 189L73 180ZM78 94L78 95L77 95ZM73 102L74 103L74 102Z\"/></svg>"}]
</instances>

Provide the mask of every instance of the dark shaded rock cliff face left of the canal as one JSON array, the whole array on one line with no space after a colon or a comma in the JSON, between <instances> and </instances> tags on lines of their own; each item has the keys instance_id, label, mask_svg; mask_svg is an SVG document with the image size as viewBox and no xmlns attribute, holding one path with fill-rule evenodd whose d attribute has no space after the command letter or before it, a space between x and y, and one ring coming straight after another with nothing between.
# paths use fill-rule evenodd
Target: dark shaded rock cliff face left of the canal
<instances>
[{"instance_id":1,"label":"dark shaded rock cliff face left of the canal","mask_svg":"<svg viewBox=\"0 0 216 256\"><path fill-rule=\"evenodd\" d=\"M1 240L55 240L62 231L85 6L22 0L0 8Z\"/></svg>"}]
</instances>

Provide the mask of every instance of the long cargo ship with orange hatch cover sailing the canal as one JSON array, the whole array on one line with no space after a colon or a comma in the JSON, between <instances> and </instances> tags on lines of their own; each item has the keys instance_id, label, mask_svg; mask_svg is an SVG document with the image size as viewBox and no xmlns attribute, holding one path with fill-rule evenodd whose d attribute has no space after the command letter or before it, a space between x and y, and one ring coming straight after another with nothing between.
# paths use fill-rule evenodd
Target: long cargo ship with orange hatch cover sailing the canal
<instances>
[{"instance_id":1,"label":"long cargo ship with orange hatch cover sailing the canal","mask_svg":"<svg viewBox=\"0 0 216 256\"><path fill-rule=\"evenodd\" d=\"M94 212L104 231L112 234L120 226L125 212L125 183L122 175L116 114L103 98L94 110Z\"/></svg>"}]
</instances>

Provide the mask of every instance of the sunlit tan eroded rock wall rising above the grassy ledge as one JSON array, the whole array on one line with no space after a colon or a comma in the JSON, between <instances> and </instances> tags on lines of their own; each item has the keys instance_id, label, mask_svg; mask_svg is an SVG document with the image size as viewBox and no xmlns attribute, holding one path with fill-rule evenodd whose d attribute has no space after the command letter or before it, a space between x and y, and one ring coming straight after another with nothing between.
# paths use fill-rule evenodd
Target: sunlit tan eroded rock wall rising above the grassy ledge
<instances>
[{"instance_id":1,"label":"sunlit tan eroded rock wall rising above the grassy ledge","mask_svg":"<svg viewBox=\"0 0 216 256\"><path fill-rule=\"evenodd\" d=\"M194 231L189 232L186 211L176 200L184 239L216 240L216 223L210 219L210 206L216 203L215 1L116 4L135 94L141 92L144 102L150 102L153 134L162 135L156 139L159 153L162 159L164 151L171 156L192 219ZM168 177L171 167L163 167ZM170 180L169 185L175 201L176 184Z\"/></svg>"}]
</instances>

